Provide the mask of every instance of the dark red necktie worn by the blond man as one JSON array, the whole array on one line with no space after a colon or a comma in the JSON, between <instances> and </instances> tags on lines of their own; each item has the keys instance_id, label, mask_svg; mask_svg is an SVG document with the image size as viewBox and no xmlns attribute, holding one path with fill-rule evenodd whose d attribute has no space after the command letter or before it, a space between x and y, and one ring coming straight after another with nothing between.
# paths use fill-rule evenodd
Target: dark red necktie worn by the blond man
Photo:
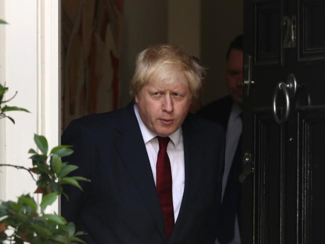
<instances>
[{"instance_id":1,"label":"dark red necktie worn by the blond man","mask_svg":"<svg viewBox=\"0 0 325 244\"><path fill-rule=\"evenodd\" d=\"M159 151L156 164L156 188L162 209L165 232L167 239L170 238L174 226L174 208L172 205L172 180L170 161L167 154L169 137L157 136Z\"/></svg>"}]
</instances>

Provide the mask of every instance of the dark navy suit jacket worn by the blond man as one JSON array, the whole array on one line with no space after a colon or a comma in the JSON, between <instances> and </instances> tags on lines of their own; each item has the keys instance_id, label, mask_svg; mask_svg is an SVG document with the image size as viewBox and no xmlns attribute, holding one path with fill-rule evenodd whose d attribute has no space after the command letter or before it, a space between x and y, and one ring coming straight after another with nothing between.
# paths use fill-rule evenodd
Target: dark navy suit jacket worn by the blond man
<instances>
[{"instance_id":1,"label":"dark navy suit jacket worn by the blond man","mask_svg":"<svg viewBox=\"0 0 325 244\"><path fill-rule=\"evenodd\" d=\"M224 161L220 126L193 114L182 124L185 187L169 240L133 103L112 112L73 120L62 144L74 153L64 161L72 175L91 179L83 191L66 186L61 214L88 234L88 243L214 243Z\"/></svg>"}]
</instances>

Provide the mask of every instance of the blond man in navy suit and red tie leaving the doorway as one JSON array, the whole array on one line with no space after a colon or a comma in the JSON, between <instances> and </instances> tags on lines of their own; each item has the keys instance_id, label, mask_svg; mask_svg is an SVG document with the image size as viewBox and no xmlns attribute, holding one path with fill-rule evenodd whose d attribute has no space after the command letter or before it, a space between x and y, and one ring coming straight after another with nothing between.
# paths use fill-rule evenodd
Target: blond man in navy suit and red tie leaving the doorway
<instances>
[{"instance_id":1,"label":"blond man in navy suit and red tie leaving the doorway","mask_svg":"<svg viewBox=\"0 0 325 244\"><path fill-rule=\"evenodd\" d=\"M188 113L204 69L175 45L140 52L125 108L72 121L62 135L83 191L62 215L88 244L214 243L224 133Z\"/></svg>"}]
</instances>

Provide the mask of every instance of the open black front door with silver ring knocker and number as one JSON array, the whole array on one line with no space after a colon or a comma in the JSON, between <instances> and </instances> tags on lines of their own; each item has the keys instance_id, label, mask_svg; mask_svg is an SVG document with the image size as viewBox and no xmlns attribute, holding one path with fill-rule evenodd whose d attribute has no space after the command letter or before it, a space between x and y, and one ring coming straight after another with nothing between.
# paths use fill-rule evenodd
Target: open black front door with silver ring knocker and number
<instances>
[{"instance_id":1,"label":"open black front door with silver ring knocker and number","mask_svg":"<svg viewBox=\"0 0 325 244\"><path fill-rule=\"evenodd\" d=\"M242 243L325 242L324 2L244 1Z\"/></svg>"}]
</instances>

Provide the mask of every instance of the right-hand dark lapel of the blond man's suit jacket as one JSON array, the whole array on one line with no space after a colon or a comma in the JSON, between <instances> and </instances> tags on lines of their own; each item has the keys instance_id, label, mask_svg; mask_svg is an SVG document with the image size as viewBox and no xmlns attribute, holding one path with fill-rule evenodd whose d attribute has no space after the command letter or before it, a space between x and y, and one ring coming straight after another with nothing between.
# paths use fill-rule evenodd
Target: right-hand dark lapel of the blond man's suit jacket
<instances>
[{"instance_id":1,"label":"right-hand dark lapel of the blond man's suit jacket","mask_svg":"<svg viewBox=\"0 0 325 244\"><path fill-rule=\"evenodd\" d=\"M188 114L182 125L183 143L184 143L184 166L185 166L185 187L178 213L178 217L168 243L173 243L181 231L189 215L192 202L197 191L197 184L200 175L200 160L203 153L203 145L199 139L199 127L192 126Z\"/></svg>"}]
</instances>

